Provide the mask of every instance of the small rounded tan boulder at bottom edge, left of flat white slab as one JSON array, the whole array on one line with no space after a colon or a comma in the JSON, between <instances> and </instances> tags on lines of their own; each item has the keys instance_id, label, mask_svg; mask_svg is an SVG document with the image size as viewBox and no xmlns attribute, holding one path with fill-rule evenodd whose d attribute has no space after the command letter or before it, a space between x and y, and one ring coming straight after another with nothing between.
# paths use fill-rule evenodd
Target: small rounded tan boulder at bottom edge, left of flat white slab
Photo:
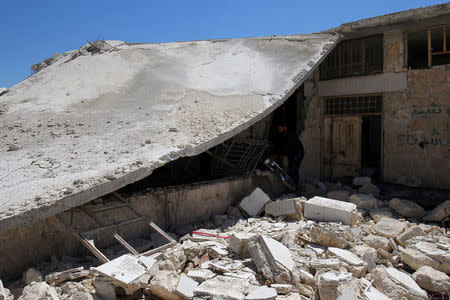
<instances>
[{"instance_id":1,"label":"small rounded tan boulder at bottom edge, left of flat white slab","mask_svg":"<svg viewBox=\"0 0 450 300\"><path fill-rule=\"evenodd\" d=\"M173 271L159 271L157 272L148 288L155 296L165 300L180 300L181 297L177 294L179 276Z\"/></svg>"}]
</instances>

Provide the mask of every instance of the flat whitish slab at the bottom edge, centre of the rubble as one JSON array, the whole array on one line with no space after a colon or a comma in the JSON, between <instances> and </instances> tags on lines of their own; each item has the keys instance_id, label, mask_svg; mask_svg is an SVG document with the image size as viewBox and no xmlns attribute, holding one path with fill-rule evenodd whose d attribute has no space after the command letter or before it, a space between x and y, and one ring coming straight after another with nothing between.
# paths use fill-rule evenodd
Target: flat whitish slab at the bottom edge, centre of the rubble
<instances>
[{"instance_id":1,"label":"flat whitish slab at the bottom edge, centre of the rubble","mask_svg":"<svg viewBox=\"0 0 450 300\"><path fill-rule=\"evenodd\" d=\"M244 299L245 295L256 289L246 279L216 276L200 284L194 291L196 297L208 297L209 299Z\"/></svg>"}]
</instances>

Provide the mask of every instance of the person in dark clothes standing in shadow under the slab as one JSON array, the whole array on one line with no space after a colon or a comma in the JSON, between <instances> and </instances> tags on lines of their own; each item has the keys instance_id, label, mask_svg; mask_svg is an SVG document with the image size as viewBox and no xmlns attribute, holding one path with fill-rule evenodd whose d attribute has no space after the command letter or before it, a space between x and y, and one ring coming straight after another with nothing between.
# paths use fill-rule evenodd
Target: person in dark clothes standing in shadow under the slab
<instances>
[{"instance_id":1,"label":"person in dark clothes standing in shadow under the slab","mask_svg":"<svg viewBox=\"0 0 450 300\"><path fill-rule=\"evenodd\" d=\"M288 128L286 124L277 125L273 137L273 144L273 154L277 156L278 161L283 168L287 167L289 176L298 187L298 171L303 157L305 156L305 150L303 149L303 144L298 138L295 129Z\"/></svg>"}]
</instances>

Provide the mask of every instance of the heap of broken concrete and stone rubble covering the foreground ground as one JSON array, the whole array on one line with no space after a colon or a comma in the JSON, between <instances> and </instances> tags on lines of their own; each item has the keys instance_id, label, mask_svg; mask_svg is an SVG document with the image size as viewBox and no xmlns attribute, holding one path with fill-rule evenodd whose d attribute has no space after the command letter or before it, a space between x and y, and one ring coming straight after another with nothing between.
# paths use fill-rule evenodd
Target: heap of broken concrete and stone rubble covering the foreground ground
<instances>
[{"instance_id":1,"label":"heap of broken concrete and stone rubble covering the foreground ground","mask_svg":"<svg viewBox=\"0 0 450 300\"><path fill-rule=\"evenodd\" d=\"M272 201L257 189L228 214L179 228L164 252L46 276L28 270L19 299L447 299L450 231L421 221L448 212L380 199L364 178L354 184L373 194L339 187L345 201ZM10 290L0 299L20 295Z\"/></svg>"}]
</instances>

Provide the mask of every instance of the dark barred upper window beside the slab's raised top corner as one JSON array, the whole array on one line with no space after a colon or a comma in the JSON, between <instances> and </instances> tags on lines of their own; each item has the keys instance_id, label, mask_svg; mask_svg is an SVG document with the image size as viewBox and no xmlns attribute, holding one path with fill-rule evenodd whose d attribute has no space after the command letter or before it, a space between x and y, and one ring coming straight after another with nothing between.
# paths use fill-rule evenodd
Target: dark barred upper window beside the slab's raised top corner
<instances>
[{"instance_id":1,"label":"dark barred upper window beside the slab's raised top corner","mask_svg":"<svg viewBox=\"0 0 450 300\"><path fill-rule=\"evenodd\" d=\"M320 80L383 72L383 35L339 43L320 65Z\"/></svg>"}]
</instances>

